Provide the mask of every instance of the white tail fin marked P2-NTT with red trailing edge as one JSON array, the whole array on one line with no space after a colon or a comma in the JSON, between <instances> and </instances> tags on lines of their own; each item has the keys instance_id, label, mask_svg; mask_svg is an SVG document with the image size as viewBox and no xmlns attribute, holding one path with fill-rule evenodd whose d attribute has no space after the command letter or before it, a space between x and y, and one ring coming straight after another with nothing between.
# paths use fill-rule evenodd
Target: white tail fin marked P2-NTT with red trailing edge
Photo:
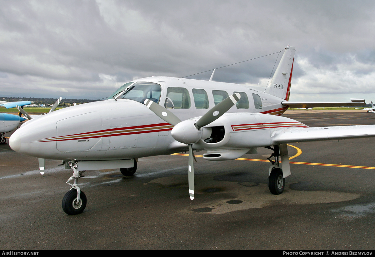
<instances>
[{"instance_id":1,"label":"white tail fin marked P2-NTT with red trailing edge","mask_svg":"<svg viewBox=\"0 0 375 257\"><path fill-rule=\"evenodd\" d=\"M290 94L290 83L292 81L294 53L296 48L287 46L281 57L279 66L271 82L267 85L265 92L288 101Z\"/></svg>"}]
</instances>

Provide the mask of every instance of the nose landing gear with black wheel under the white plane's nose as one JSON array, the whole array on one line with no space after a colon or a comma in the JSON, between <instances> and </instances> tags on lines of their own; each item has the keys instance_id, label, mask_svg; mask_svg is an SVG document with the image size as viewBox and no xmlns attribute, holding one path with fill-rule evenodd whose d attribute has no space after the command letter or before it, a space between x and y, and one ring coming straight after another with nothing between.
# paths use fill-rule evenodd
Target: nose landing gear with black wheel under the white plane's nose
<instances>
[{"instance_id":1,"label":"nose landing gear with black wheel under the white plane's nose","mask_svg":"<svg viewBox=\"0 0 375 257\"><path fill-rule=\"evenodd\" d=\"M83 172L84 170L78 171L77 169L73 168L73 176L71 176L68 181L66 181L66 183L71 186L71 190L65 194L62 202L62 207L65 213L68 215L80 214L86 208L86 195L78 187L78 178L84 177L84 175L82 175ZM73 179L74 183L69 183L69 181Z\"/></svg>"}]
</instances>

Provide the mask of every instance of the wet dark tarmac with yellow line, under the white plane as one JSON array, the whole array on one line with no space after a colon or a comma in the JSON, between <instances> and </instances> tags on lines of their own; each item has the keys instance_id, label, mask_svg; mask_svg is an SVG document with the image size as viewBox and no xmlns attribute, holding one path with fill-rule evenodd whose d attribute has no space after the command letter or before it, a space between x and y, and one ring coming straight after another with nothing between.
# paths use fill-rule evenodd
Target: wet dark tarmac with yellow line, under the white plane
<instances>
[{"instance_id":1,"label":"wet dark tarmac with yellow line, under the white plane","mask_svg":"<svg viewBox=\"0 0 375 257\"><path fill-rule=\"evenodd\" d=\"M311 127L375 124L365 111L284 116ZM265 148L243 160L198 156L193 201L184 155L141 158L133 177L87 171L78 181L87 207L74 216L61 207L71 170L46 160L40 175L36 158L0 145L0 248L374 249L374 142L291 144L297 156L278 196L267 187L272 151Z\"/></svg>"}]
</instances>

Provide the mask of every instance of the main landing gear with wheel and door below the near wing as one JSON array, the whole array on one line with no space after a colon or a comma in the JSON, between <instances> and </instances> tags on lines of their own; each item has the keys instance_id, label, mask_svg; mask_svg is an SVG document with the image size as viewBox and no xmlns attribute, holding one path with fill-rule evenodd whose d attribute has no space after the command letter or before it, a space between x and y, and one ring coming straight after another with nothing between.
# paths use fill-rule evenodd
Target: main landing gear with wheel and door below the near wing
<instances>
[{"instance_id":1,"label":"main landing gear with wheel and door below the near wing","mask_svg":"<svg viewBox=\"0 0 375 257\"><path fill-rule=\"evenodd\" d=\"M268 146L266 148L273 150L273 154L267 158L271 162L270 167L270 176L268 178L268 187L272 194L281 194L284 191L285 187L285 177L290 175L290 166L288 158L288 149L287 145L275 145L272 148ZM279 157L281 155L282 167L284 167L284 172L280 167ZM275 161L272 161L271 158L275 157Z\"/></svg>"}]
</instances>

